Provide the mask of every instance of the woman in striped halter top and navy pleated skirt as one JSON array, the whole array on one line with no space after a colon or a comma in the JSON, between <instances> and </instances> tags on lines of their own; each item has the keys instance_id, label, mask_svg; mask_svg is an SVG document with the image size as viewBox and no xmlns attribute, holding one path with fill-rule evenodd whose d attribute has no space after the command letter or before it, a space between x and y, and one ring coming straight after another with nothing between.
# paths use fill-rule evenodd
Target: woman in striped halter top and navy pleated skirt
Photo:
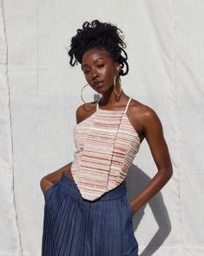
<instances>
[{"instance_id":1,"label":"woman in striped halter top and navy pleated skirt","mask_svg":"<svg viewBox=\"0 0 204 256\"><path fill-rule=\"evenodd\" d=\"M102 98L76 110L73 162L41 180L43 256L138 255L132 218L172 176L160 119L122 91L128 56L121 33L94 20L72 37L70 64L82 64L87 83ZM128 202L125 179L144 138L158 172Z\"/></svg>"}]
</instances>

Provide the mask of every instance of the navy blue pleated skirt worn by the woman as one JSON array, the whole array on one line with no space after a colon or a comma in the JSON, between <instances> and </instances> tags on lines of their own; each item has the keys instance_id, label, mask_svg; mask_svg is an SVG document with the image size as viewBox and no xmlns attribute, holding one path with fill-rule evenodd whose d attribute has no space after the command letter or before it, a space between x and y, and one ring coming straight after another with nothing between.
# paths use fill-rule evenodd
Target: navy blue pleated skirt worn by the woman
<instances>
[{"instance_id":1,"label":"navy blue pleated skirt worn by the woman","mask_svg":"<svg viewBox=\"0 0 204 256\"><path fill-rule=\"evenodd\" d=\"M44 199L42 256L138 255L125 183L90 201L63 172Z\"/></svg>"}]
</instances>

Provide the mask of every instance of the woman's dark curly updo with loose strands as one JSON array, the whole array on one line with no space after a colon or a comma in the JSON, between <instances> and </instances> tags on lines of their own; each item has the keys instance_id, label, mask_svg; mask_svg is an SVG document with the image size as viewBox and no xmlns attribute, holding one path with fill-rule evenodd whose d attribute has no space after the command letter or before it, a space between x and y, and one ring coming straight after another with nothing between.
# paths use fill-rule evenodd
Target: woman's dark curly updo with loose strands
<instances>
[{"instance_id":1,"label":"woman's dark curly updo with loose strands","mask_svg":"<svg viewBox=\"0 0 204 256\"><path fill-rule=\"evenodd\" d=\"M70 50L66 49L70 57L70 65L82 64L82 56L85 51L97 48L108 51L109 56L121 65L122 69L119 75L125 76L128 74L128 54L123 49L126 48L126 44L123 41L123 35L121 35L122 30L113 24L102 23L95 19L91 23L84 22L82 30L78 29L76 31L76 36L71 38ZM122 56L122 53L124 56ZM126 71L123 71L124 66L126 66Z\"/></svg>"}]
</instances>

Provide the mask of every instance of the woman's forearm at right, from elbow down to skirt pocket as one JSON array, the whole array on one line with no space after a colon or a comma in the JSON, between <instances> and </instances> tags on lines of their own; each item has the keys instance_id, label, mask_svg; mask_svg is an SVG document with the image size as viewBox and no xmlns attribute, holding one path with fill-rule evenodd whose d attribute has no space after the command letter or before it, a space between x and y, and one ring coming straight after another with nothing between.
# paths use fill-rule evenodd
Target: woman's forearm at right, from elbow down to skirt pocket
<instances>
[{"instance_id":1,"label":"woman's forearm at right, from elbow down to skirt pocket","mask_svg":"<svg viewBox=\"0 0 204 256\"><path fill-rule=\"evenodd\" d=\"M148 182L141 192L131 200L131 205L133 207L134 213L137 212L142 205L148 202L149 199L152 199L157 192L168 182L172 177L173 171L168 170L165 172L159 171L155 174L154 178Z\"/></svg>"}]
</instances>

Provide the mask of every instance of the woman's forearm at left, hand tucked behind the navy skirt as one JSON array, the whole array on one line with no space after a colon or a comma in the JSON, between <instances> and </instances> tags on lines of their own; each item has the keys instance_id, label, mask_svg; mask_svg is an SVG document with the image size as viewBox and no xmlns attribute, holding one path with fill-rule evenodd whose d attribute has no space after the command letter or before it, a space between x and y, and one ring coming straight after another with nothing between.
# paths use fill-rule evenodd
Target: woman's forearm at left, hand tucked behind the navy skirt
<instances>
[{"instance_id":1,"label":"woman's forearm at left, hand tucked behind the navy skirt","mask_svg":"<svg viewBox=\"0 0 204 256\"><path fill-rule=\"evenodd\" d=\"M45 192L49 188L49 186L54 185L59 179L61 179L63 172L69 170L71 164L72 162L69 162L69 164L64 165L57 171L51 172L48 175L44 176L40 182L42 191Z\"/></svg>"}]
</instances>

